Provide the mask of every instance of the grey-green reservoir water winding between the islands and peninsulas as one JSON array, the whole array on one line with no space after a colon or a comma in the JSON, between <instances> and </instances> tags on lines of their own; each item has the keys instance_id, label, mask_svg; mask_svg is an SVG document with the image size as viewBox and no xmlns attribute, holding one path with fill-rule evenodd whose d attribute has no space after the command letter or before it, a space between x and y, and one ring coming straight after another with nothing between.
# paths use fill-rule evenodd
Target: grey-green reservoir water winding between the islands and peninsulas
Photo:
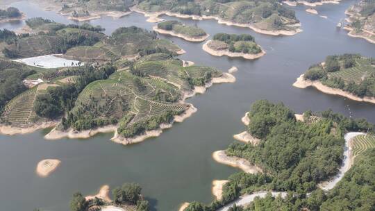
<instances>
[{"instance_id":1,"label":"grey-green reservoir water winding between the islands and peninsulas","mask_svg":"<svg viewBox=\"0 0 375 211\"><path fill-rule=\"evenodd\" d=\"M194 21L210 35L215 33L249 33L267 52L258 60L214 57L201 49L203 43L190 43L177 37L160 35L172 40L187 53L183 60L226 71L238 67L235 83L214 85L202 95L188 100L198 112L181 124L174 124L160 135L140 144L122 146L110 142L112 134L96 135L87 140L44 140L48 130L26 135L0 135L0 204L1 210L69 210L69 200L76 191L94 194L99 187L126 182L140 183L152 210L177 210L184 201L213 200L211 183L225 179L237 169L216 163L211 154L233 142L233 134L244 126L240 121L251 103L258 99L283 101L296 112L327 110L352 117L365 117L375 123L375 105L350 101L341 96L324 94L314 88L298 89L292 83L310 65L331 54L361 53L375 57L375 44L349 37L336 24L344 18L344 10L355 1L318 6L319 15L305 12L297 6L302 33L288 37L261 35L249 28L225 26L215 20ZM56 22L73 23L56 12L43 11L27 1L12 3L27 17L44 17ZM163 16L164 19L176 19ZM138 13L121 19L103 17L92 20L106 28L107 34L120 26L140 26L151 30L151 24ZM24 22L0 24L0 28L15 30ZM36 164L46 158L62 163L48 178L35 174Z\"/></svg>"}]
</instances>

